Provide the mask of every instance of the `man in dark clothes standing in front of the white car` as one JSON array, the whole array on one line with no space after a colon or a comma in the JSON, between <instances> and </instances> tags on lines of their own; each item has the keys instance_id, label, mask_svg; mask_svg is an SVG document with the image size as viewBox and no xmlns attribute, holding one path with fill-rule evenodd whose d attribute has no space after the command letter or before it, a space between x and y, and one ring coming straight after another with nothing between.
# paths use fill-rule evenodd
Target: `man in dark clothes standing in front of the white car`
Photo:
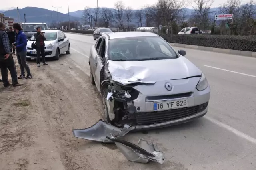
<instances>
[{"instance_id":1,"label":"man in dark clothes standing in front of the white car","mask_svg":"<svg viewBox=\"0 0 256 170\"><path fill-rule=\"evenodd\" d=\"M36 28L36 33L34 34L36 40L36 63L37 67L40 67L40 54L42 55L43 65L48 65L45 62L45 51L44 51L44 41L46 40L44 33L41 31L40 27Z\"/></svg>"}]
</instances>

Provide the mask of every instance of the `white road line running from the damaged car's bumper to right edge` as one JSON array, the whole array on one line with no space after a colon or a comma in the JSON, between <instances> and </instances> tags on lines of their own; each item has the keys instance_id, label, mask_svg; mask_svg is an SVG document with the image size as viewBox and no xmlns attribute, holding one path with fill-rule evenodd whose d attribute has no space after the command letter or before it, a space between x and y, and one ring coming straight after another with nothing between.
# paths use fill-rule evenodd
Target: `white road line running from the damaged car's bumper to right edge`
<instances>
[{"instance_id":1,"label":"white road line running from the damaged car's bumper to right edge","mask_svg":"<svg viewBox=\"0 0 256 170\"><path fill-rule=\"evenodd\" d=\"M223 127L225 128L226 130L236 134L237 136L239 136L240 138L244 138L245 140L247 140L248 142L251 142L253 144L256 144L256 139L251 137L251 136L248 136L247 134L244 134L243 132L240 132L239 130L236 130L235 128L232 128L228 125L225 125L224 123L220 122L220 121L217 121L216 119L213 119L213 118L210 118L208 116L205 116L205 118L209 121L211 121L212 123L220 126L220 127Z\"/></svg>"}]
</instances>

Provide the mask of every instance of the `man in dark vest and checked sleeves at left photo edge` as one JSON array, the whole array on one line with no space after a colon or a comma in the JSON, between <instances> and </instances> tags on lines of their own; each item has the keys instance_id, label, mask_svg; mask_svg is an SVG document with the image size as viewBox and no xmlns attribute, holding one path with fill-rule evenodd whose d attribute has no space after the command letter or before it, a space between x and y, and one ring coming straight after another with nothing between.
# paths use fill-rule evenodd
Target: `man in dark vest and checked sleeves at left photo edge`
<instances>
[{"instance_id":1,"label":"man in dark vest and checked sleeves at left photo edge","mask_svg":"<svg viewBox=\"0 0 256 170\"><path fill-rule=\"evenodd\" d=\"M12 86L21 86L22 84L18 83L16 67L11 54L9 38L4 28L4 23L0 22L0 69L2 75L2 82L4 83L4 87L8 87L11 85L8 81L9 69L12 77Z\"/></svg>"}]
</instances>

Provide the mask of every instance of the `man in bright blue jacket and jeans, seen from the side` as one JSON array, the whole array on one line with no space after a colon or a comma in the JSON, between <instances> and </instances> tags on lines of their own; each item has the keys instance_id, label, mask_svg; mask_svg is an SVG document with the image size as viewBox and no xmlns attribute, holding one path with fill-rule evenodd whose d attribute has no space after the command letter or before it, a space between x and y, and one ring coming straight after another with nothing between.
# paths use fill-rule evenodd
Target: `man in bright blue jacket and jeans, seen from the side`
<instances>
[{"instance_id":1,"label":"man in bright blue jacket and jeans, seen from the side","mask_svg":"<svg viewBox=\"0 0 256 170\"><path fill-rule=\"evenodd\" d=\"M13 24L13 28L16 32L16 42L14 48L16 48L17 52L17 59L20 65L20 76L18 79L31 79L32 74L30 72L30 68L27 64L26 57L27 57L27 38L24 32L22 32L21 26L18 23ZM25 69L27 71L27 77L25 76Z\"/></svg>"}]
</instances>

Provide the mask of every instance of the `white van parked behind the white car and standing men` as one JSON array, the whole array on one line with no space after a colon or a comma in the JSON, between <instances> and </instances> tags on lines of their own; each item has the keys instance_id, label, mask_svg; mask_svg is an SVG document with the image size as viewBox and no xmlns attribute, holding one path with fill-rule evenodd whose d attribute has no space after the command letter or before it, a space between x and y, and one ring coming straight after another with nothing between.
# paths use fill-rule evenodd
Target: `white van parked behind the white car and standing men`
<instances>
[{"instance_id":1,"label":"white van parked behind the white car and standing men","mask_svg":"<svg viewBox=\"0 0 256 170\"><path fill-rule=\"evenodd\" d=\"M21 26L22 31L26 34L27 40L29 40L36 33L37 27L40 27L43 32L44 30L48 30L47 24L43 22L23 22Z\"/></svg>"}]
</instances>

